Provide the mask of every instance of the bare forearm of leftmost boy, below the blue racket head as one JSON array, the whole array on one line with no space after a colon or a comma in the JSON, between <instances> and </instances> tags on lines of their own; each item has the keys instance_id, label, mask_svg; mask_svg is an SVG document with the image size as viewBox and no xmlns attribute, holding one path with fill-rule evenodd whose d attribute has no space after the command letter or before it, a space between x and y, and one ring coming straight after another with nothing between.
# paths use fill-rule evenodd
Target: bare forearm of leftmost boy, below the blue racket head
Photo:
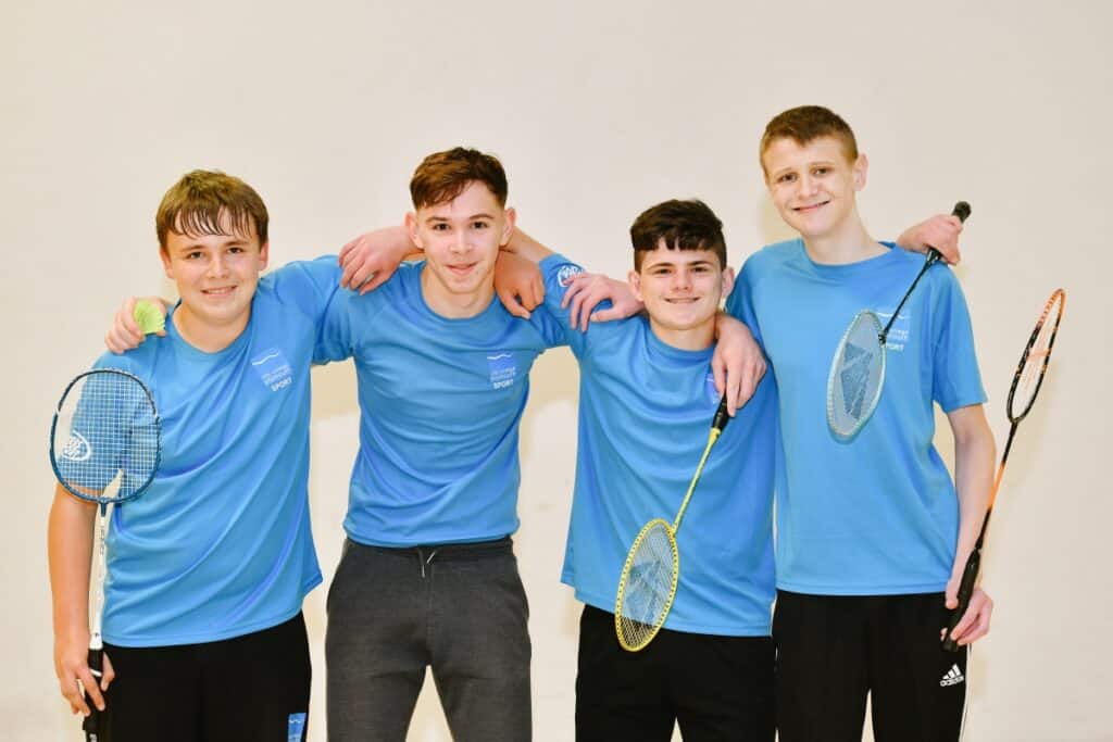
<instances>
[{"instance_id":1,"label":"bare forearm of leftmost boy, below the blue racket head","mask_svg":"<svg viewBox=\"0 0 1113 742\"><path fill-rule=\"evenodd\" d=\"M60 486L57 488L47 527L56 637L89 632L89 574L96 517L95 504L77 499Z\"/></svg>"}]
</instances>

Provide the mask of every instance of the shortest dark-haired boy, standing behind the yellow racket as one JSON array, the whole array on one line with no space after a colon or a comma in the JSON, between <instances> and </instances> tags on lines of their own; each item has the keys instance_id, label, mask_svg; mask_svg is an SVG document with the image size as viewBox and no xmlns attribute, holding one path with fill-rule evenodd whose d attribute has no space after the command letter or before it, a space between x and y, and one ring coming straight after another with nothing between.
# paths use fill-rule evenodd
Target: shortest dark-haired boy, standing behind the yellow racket
<instances>
[{"instance_id":1,"label":"shortest dark-haired boy, standing behind the yellow racket","mask_svg":"<svg viewBox=\"0 0 1113 742\"><path fill-rule=\"evenodd\" d=\"M634 536L672 518L719 403L710 368L720 301L733 284L722 224L671 200L630 228L630 284L646 311L587 333L564 296L582 269L518 233L540 263L545 306L580 364L575 489L561 580L580 620L580 740L774 739L772 476L776 396L762 382L727 426L677 533L676 601L653 642L623 650L614 595ZM731 323L729 318L723 320ZM739 328L740 329L740 328Z\"/></svg>"}]
</instances>

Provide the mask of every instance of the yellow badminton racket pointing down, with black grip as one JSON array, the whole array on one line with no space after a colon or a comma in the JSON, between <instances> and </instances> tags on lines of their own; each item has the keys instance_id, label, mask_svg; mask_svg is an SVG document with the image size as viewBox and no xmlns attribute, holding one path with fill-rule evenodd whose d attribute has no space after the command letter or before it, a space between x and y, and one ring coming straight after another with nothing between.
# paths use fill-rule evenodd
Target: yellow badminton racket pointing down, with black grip
<instances>
[{"instance_id":1,"label":"yellow badminton racket pointing down, with black grip","mask_svg":"<svg viewBox=\"0 0 1113 742\"><path fill-rule=\"evenodd\" d=\"M677 595L677 582L680 578L680 552L677 550L677 530L688 508L703 472L703 464L711 453L711 447L719 439L722 429L730 422L727 414L727 397L723 396L711 422L711 432L707 447L696 467L696 475L688 485L688 493L676 520L669 524L663 518L654 518L642 526L633 545L627 554L622 575L619 577L619 592L614 601L614 631L619 644L629 652L644 649L664 624L664 619L672 609L672 600Z\"/></svg>"}]
</instances>

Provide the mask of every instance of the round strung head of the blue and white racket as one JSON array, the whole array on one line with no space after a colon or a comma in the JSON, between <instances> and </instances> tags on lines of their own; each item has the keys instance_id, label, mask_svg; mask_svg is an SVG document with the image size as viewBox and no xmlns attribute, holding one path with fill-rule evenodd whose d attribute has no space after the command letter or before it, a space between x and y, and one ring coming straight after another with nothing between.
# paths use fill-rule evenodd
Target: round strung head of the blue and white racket
<instances>
[{"instance_id":1,"label":"round strung head of the blue and white racket","mask_svg":"<svg viewBox=\"0 0 1113 742\"><path fill-rule=\"evenodd\" d=\"M53 433L59 481L99 503L128 499L158 466L159 423L142 385L118 372L93 372L67 389Z\"/></svg>"}]
</instances>

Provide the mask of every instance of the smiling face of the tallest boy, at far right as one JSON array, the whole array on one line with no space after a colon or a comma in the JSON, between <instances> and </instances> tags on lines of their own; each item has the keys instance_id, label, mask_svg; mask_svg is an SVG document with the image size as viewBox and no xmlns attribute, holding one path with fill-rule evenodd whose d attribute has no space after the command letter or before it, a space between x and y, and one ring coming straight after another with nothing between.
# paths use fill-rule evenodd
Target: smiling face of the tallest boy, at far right
<instances>
[{"instance_id":1,"label":"smiling face of the tallest boy, at far right","mask_svg":"<svg viewBox=\"0 0 1113 742\"><path fill-rule=\"evenodd\" d=\"M860 224L855 194L866 185L865 155L853 160L833 136L806 145L782 137L768 144L761 165L774 206L805 241L837 238Z\"/></svg>"}]
</instances>

